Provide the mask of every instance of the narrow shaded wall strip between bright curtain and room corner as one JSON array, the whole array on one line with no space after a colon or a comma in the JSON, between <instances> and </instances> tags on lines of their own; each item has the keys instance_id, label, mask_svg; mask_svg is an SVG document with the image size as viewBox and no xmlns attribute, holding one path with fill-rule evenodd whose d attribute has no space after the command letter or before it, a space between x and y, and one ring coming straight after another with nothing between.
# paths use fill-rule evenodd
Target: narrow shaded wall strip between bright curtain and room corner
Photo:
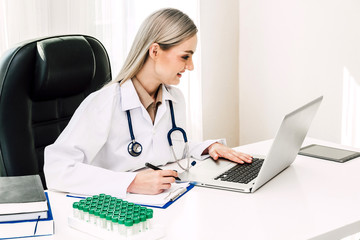
<instances>
[{"instance_id":1,"label":"narrow shaded wall strip between bright curtain and room corner","mask_svg":"<svg viewBox=\"0 0 360 240\"><path fill-rule=\"evenodd\" d=\"M200 0L203 138L239 145L238 0Z\"/></svg>"}]
</instances>

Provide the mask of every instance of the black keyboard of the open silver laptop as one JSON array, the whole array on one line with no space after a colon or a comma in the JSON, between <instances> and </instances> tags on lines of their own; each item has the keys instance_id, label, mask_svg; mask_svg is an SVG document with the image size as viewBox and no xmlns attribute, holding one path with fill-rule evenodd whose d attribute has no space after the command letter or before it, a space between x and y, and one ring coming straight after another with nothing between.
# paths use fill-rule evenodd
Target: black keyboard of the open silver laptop
<instances>
[{"instance_id":1,"label":"black keyboard of the open silver laptop","mask_svg":"<svg viewBox=\"0 0 360 240\"><path fill-rule=\"evenodd\" d=\"M236 164L214 179L226 182L249 183L257 177L263 162L264 159L253 158L252 163Z\"/></svg>"}]
</instances>

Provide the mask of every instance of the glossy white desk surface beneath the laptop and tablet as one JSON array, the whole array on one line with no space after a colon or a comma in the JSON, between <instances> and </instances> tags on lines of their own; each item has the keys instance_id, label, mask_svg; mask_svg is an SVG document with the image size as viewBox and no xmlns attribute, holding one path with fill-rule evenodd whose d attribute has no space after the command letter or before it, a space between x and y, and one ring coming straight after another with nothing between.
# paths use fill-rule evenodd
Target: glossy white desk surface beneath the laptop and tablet
<instances>
[{"instance_id":1,"label":"glossy white desk surface beneath the laptop and tablet","mask_svg":"<svg viewBox=\"0 0 360 240\"><path fill-rule=\"evenodd\" d=\"M272 141L238 147L266 155ZM339 146L306 139L310 143ZM350 150L357 150L346 147ZM360 158L346 163L297 156L255 193L194 187L168 209L154 209L164 239L340 239L360 231ZM67 226L72 202L49 192L55 235L49 239L95 239Z\"/></svg>"}]
</instances>

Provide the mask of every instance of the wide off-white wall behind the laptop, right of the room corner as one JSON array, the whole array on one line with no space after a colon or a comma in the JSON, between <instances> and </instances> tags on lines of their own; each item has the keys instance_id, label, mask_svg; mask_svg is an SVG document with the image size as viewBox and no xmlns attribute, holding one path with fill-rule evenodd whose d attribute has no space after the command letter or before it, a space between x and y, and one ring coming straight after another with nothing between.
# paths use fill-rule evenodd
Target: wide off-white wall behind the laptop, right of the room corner
<instances>
[{"instance_id":1,"label":"wide off-white wall behind the laptop, right of the room corner","mask_svg":"<svg viewBox=\"0 0 360 240\"><path fill-rule=\"evenodd\" d=\"M344 81L360 81L360 1L240 0L239 9L240 144L273 138L284 114L319 95L308 136L340 143L355 111L344 111Z\"/></svg>"}]
</instances>

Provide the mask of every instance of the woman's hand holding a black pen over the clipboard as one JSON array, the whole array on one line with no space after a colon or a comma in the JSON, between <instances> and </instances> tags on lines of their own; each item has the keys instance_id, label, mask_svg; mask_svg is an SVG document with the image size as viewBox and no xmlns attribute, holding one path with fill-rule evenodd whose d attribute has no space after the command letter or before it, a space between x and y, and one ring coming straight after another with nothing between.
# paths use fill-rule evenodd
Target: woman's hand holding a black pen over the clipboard
<instances>
[{"instance_id":1,"label":"woman's hand holding a black pen over the clipboard","mask_svg":"<svg viewBox=\"0 0 360 240\"><path fill-rule=\"evenodd\" d=\"M138 172L127 191L140 194L159 194L171 187L178 173L173 170L147 169Z\"/></svg>"}]
</instances>

